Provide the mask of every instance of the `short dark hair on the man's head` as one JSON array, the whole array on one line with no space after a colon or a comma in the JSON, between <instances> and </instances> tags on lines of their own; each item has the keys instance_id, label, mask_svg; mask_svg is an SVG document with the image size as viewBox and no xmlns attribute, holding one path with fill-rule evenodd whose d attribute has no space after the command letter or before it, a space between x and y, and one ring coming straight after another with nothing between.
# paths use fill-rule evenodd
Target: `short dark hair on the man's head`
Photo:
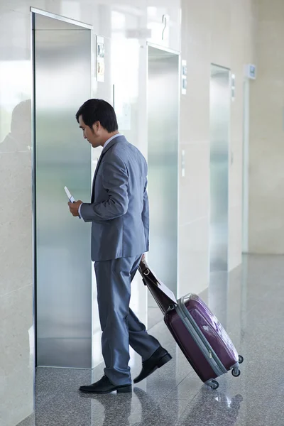
<instances>
[{"instance_id":1,"label":"short dark hair on the man's head","mask_svg":"<svg viewBox=\"0 0 284 426\"><path fill-rule=\"evenodd\" d=\"M99 121L109 133L119 129L113 107L102 99L89 99L84 102L76 114L78 123L80 116L82 116L84 124L87 124L91 129L96 121Z\"/></svg>"}]
</instances>

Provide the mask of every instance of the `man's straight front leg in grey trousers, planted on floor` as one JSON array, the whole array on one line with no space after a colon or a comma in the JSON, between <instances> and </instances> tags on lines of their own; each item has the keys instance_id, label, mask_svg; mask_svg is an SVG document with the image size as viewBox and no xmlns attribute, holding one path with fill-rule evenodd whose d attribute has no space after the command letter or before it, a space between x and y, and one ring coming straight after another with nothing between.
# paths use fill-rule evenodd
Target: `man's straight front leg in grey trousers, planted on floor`
<instances>
[{"instance_id":1,"label":"man's straight front leg in grey trousers, planted on floor","mask_svg":"<svg viewBox=\"0 0 284 426\"><path fill-rule=\"evenodd\" d=\"M136 258L94 263L105 375L114 385L131 383L129 368L129 302L131 270Z\"/></svg>"}]
</instances>

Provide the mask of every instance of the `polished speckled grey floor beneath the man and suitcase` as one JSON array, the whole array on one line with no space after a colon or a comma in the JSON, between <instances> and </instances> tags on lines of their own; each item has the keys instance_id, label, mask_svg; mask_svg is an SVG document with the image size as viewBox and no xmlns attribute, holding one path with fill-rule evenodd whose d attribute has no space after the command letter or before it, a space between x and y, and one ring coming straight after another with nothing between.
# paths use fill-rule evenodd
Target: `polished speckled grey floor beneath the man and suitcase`
<instances>
[{"instance_id":1,"label":"polished speckled grey floor beneath the man and suitcase","mask_svg":"<svg viewBox=\"0 0 284 426\"><path fill-rule=\"evenodd\" d=\"M242 268L212 274L202 294L245 358L241 376L202 385L151 308L151 334L172 361L127 395L81 395L78 388L102 376L94 370L38 368L35 414L21 426L283 426L284 258L246 256ZM157 317L155 318L155 312ZM131 356L134 378L141 359Z\"/></svg>"}]
</instances>

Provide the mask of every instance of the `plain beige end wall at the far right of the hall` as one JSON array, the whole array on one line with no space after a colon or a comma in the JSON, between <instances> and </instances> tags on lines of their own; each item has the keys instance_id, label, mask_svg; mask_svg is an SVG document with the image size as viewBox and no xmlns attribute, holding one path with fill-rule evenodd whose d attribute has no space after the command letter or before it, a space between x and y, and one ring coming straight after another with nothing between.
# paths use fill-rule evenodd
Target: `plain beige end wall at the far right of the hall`
<instances>
[{"instance_id":1,"label":"plain beige end wall at the far right of the hall","mask_svg":"<svg viewBox=\"0 0 284 426\"><path fill-rule=\"evenodd\" d=\"M249 252L284 253L284 2L258 1L250 84Z\"/></svg>"}]
</instances>

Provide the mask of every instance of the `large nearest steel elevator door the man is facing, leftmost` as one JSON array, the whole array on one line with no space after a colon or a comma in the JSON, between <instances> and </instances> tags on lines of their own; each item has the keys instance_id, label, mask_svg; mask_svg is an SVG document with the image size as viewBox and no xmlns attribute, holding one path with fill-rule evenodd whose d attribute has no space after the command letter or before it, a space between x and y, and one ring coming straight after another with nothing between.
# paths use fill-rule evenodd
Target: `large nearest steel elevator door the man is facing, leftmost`
<instances>
[{"instance_id":1,"label":"large nearest steel elevator door the man is facing, leftmost","mask_svg":"<svg viewBox=\"0 0 284 426\"><path fill-rule=\"evenodd\" d=\"M91 97L92 31L33 15L37 365L91 368L90 229L64 187L88 201L91 151L75 114Z\"/></svg>"}]
</instances>

